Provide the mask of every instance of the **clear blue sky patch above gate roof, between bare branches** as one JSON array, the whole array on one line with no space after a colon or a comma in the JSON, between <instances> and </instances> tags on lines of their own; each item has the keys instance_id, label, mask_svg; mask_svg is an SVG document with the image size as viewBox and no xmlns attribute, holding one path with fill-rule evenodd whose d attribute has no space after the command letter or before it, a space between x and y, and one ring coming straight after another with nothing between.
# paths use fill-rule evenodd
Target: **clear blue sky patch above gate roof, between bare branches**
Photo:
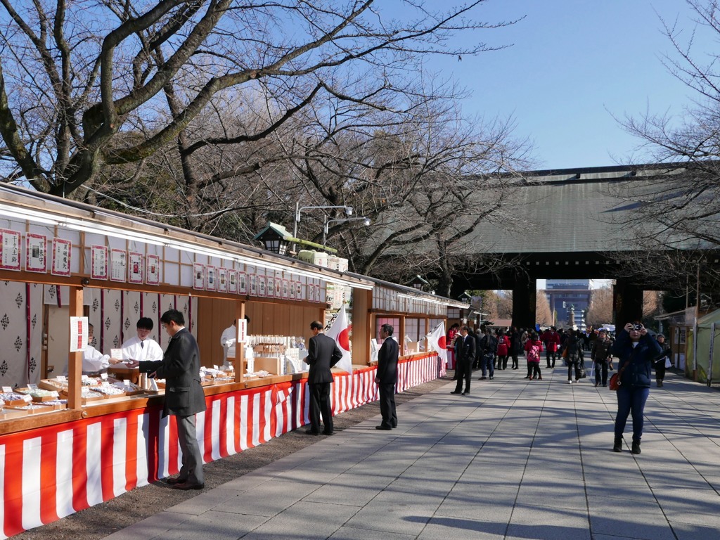
<instances>
[{"instance_id":1,"label":"clear blue sky patch above gate roof, between bare branches","mask_svg":"<svg viewBox=\"0 0 720 540\"><path fill-rule=\"evenodd\" d=\"M515 119L516 135L534 141L536 168L650 161L634 153L639 140L613 115L677 115L693 96L661 62L672 45L658 15L677 18L684 36L695 27L684 0L487 0L475 14L485 22L525 19L477 35L512 47L445 59L441 70L472 91L466 114ZM698 38L698 54L710 45Z\"/></svg>"}]
</instances>

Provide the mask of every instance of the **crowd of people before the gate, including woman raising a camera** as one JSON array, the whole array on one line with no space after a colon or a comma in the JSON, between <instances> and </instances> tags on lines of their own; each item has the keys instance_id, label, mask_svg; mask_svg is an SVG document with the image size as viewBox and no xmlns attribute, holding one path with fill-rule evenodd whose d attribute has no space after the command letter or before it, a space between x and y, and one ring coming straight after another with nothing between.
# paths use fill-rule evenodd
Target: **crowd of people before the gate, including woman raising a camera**
<instances>
[{"instance_id":1,"label":"crowd of people before the gate, including woman raising a camera","mask_svg":"<svg viewBox=\"0 0 720 540\"><path fill-rule=\"evenodd\" d=\"M598 330L562 329L551 326L541 333L525 328L473 328L454 324L446 336L446 343L455 355L455 390L451 393L469 395L472 372L480 370L480 380L494 379L495 369L520 369L523 356L527 364L524 377L541 381L541 356L546 369L554 369L562 359L567 366L567 382L577 384L586 376L585 361L592 364L590 380L595 386L608 386L608 372L613 371L613 357L618 361L618 411L614 426L613 451L622 451L622 437L628 417L632 416L633 454L640 454L644 406L649 395L652 370L657 387L662 388L665 369L670 364L670 346L662 334L649 333L642 323L627 323L617 336L606 328ZM512 362L508 368L508 359ZM464 385L464 387L463 387Z\"/></svg>"}]
</instances>

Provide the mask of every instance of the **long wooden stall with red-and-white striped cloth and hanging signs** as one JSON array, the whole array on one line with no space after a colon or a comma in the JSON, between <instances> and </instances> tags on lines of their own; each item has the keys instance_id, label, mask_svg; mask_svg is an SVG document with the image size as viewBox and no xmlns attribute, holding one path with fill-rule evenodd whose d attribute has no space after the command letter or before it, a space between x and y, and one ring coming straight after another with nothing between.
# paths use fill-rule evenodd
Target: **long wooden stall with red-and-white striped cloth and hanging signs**
<instances>
[{"instance_id":1,"label":"long wooden stall with red-and-white striped cloth and hanging signs","mask_svg":"<svg viewBox=\"0 0 720 540\"><path fill-rule=\"evenodd\" d=\"M412 310L411 318L424 321L413 330L420 341L444 309L416 292L390 294L394 310L377 307L384 287L251 246L0 186L0 289L7 299L0 382L11 394L0 413L0 536L178 470L174 418L161 418L162 383L148 384L122 364L84 375L86 345L120 354L135 323L149 318L150 338L164 348L160 315L183 312L205 367L207 411L197 415L197 432L210 462L307 423L298 349L310 321L325 316L328 288L352 292L355 320L354 369L335 374L333 412L377 400L368 337L377 317ZM438 307L428 311L433 302ZM233 323L238 343L233 366L223 370L220 334ZM93 341L84 343L89 324ZM407 349L398 392L444 369L436 354Z\"/></svg>"}]
</instances>

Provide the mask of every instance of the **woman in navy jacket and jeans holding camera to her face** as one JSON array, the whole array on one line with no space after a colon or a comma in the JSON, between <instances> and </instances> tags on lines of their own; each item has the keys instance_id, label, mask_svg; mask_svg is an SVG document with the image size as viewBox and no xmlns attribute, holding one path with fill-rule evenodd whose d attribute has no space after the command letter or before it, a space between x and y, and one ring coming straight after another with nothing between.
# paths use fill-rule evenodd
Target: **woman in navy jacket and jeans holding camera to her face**
<instances>
[{"instance_id":1,"label":"woman in navy jacket and jeans holding camera to her face","mask_svg":"<svg viewBox=\"0 0 720 540\"><path fill-rule=\"evenodd\" d=\"M620 384L613 451L623 450L623 432L628 415L632 414L632 453L640 453L643 414L652 379L652 361L661 350L641 323L627 323L613 343L611 351L618 358Z\"/></svg>"}]
</instances>

